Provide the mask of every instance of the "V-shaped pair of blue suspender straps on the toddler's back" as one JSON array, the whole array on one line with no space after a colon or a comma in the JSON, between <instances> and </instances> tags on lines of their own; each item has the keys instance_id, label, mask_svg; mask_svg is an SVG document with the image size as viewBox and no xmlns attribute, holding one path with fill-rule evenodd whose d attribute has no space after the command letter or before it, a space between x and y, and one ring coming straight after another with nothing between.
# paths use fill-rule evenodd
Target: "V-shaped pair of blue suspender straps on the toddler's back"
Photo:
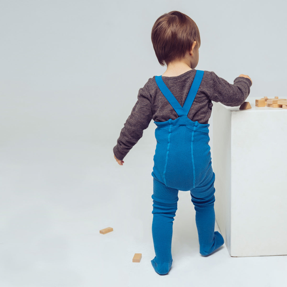
<instances>
[{"instance_id":1,"label":"V-shaped pair of blue suspender straps on the toddler's back","mask_svg":"<svg viewBox=\"0 0 287 287\"><path fill-rule=\"evenodd\" d=\"M171 106L174 108L176 113L179 116L187 116L189 113L189 110L191 108L191 105L195 99L196 93L198 91L198 88L201 84L201 80L203 77L204 71L196 70L195 77L193 79L191 88L188 92L187 98L185 99L183 107L179 104L177 99L174 97L174 95L170 92L166 84L164 84L161 76L155 76L156 84L158 85L158 88L162 92L162 94L166 97L168 102L171 104Z\"/></svg>"}]
</instances>

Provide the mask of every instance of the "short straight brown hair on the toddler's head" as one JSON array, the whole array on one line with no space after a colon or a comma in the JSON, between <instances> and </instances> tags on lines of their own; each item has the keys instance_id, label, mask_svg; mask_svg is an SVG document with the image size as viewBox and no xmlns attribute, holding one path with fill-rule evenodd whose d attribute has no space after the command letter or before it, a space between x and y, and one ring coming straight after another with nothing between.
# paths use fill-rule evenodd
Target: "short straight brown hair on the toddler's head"
<instances>
[{"instance_id":1,"label":"short straight brown hair on the toddler's head","mask_svg":"<svg viewBox=\"0 0 287 287\"><path fill-rule=\"evenodd\" d=\"M200 46L200 34L195 22L184 13L171 11L161 15L152 27L152 45L160 65L184 57L193 42Z\"/></svg>"}]
</instances>

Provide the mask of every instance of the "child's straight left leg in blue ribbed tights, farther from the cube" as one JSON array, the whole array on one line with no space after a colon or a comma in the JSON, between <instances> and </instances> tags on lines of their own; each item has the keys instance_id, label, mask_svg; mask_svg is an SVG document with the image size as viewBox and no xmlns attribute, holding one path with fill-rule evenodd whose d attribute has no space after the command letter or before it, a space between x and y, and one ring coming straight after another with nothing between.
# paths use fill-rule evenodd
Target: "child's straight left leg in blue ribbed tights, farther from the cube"
<instances>
[{"instance_id":1,"label":"child's straight left leg in blue ribbed tights, farther from the cube","mask_svg":"<svg viewBox=\"0 0 287 287\"><path fill-rule=\"evenodd\" d=\"M152 238L156 256L151 262L154 270L163 275L168 273L172 264L172 225L177 211L179 190L167 187L155 178L153 181Z\"/></svg>"}]
</instances>

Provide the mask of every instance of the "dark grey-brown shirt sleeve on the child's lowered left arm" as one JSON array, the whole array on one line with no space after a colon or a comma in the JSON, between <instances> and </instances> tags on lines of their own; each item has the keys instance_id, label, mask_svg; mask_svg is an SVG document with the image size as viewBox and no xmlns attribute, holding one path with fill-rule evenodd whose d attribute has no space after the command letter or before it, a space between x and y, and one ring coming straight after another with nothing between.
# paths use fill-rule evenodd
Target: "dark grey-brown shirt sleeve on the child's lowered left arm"
<instances>
[{"instance_id":1,"label":"dark grey-brown shirt sleeve on the child's lowered left arm","mask_svg":"<svg viewBox=\"0 0 287 287\"><path fill-rule=\"evenodd\" d=\"M124 127L121 129L117 145L113 148L114 155L117 159L123 160L131 148L142 137L152 120L151 96L146 83L143 88L139 89L137 102L135 103L131 114L127 118Z\"/></svg>"}]
</instances>

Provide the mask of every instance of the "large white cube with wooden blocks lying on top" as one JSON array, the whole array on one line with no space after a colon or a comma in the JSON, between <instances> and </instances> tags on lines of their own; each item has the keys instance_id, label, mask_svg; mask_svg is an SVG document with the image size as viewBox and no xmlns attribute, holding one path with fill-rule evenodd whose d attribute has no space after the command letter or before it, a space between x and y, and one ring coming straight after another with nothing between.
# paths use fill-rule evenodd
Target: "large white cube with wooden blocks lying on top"
<instances>
[{"instance_id":1,"label":"large white cube with wooden blocks lying on top","mask_svg":"<svg viewBox=\"0 0 287 287\"><path fill-rule=\"evenodd\" d=\"M212 107L214 209L232 257L287 255L287 109L260 98Z\"/></svg>"}]
</instances>

